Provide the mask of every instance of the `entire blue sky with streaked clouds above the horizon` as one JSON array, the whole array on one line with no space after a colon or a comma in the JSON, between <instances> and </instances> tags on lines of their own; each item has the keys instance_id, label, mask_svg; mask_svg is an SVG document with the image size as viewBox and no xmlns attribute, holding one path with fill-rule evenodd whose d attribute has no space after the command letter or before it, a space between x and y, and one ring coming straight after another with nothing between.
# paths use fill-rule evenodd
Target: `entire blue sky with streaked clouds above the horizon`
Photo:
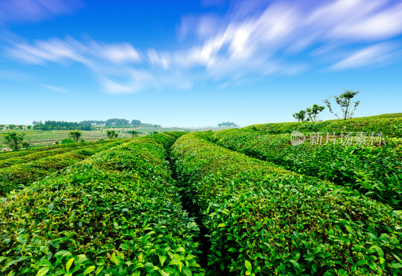
<instances>
[{"instance_id":1,"label":"entire blue sky with streaked clouds above the horizon","mask_svg":"<svg viewBox=\"0 0 402 276\"><path fill-rule=\"evenodd\" d=\"M0 2L0 123L245 126L344 88L368 116L402 112L401 76L402 1Z\"/></svg>"}]
</instances>

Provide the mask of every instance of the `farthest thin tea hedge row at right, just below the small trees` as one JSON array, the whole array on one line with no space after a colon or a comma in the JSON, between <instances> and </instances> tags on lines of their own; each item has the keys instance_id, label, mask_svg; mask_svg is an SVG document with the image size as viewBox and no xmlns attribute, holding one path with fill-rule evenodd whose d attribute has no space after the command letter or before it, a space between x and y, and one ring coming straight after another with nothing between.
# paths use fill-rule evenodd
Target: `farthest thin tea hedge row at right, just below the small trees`
<instances>
[{"instance_id":1,"label":"farthest thin tea hedge row at right, just below the small trees","mask_svg":"<svg viewBox=\"0 0 402 276\"><path fill-rule=\"evenodd\" d=\"M264 123L243 127L271 134L290 133L298 130L308 132L382 132L389 137L402 137L402 118L352 118L348 120L328 120L318 122Z\"/></svg>"}]
</instances>

